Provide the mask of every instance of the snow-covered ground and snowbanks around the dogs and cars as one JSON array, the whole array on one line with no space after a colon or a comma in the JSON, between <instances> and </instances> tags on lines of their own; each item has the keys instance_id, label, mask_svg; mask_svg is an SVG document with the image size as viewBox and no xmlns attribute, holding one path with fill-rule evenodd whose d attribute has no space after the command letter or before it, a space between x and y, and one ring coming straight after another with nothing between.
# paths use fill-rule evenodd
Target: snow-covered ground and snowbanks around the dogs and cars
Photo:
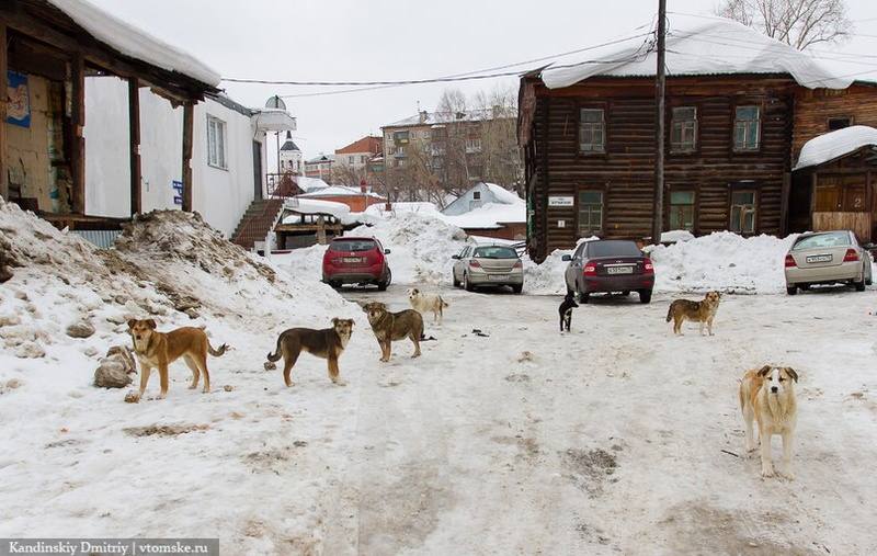
<instances>
[{"instance_id":1,"label":"snow-covered ground and snowbanks around the dogs and cars","mask_svg":"<svg viewBox=\"0 0 877 556\"><path fill-rule=\"evenodd\" d=\"M784 294L788 239L731 234L652 251L652 303L595 298L558 331L560 254L524 295L449 287L458 229L409 216L357 230L391 249L386 293L317 282L320 248L270 264L180 213L114 251L0 202L0 537L218 537L228 555L870 554L877 514L877 293ZM315 266L316 265L316 266ZM423 355L389 363L356 302L451 302ZM716 336L674 338L673 298L725 292ZM187 314L183 313L187 310ZM164 400L91 385L125 320L205 326L213 392L171 365ZM303 355L264 371L293 326L356 320L346 387ZM95 333L75 339L68 325ZM472 333L478 329L487 337ZM739 377L795 367L796 480L744 453ZM153 378L156 381L156 378ZM155 395L150 383L147 394ZM774 440L778 456L778 439Z\"/></svg>"}]
</instances>

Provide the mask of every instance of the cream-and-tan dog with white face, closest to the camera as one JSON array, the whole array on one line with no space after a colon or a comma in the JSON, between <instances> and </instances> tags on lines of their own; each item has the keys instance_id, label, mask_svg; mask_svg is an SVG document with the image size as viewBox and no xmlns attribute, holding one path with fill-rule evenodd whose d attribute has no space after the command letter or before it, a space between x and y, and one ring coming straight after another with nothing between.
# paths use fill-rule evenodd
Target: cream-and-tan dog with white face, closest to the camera
<instances>
[{"instance_id":1,"label":"cream-and-tan dog with white face, closest to the camera","mask_svg":"<svg viewBox=\"0 0 877 556\"><path fill-rule=\"evenodd\" d=\"M795 432L797 400L795 385L798 374L787 366L764 365L756 371L749 371L740 383L740 409L747 425L747 451L755 451L755 438L752 420L759 423L761 441L761 475L774 476L774 464L771 459L771 436L783 436L783 470L781 475L789 480L791 473L791 434Z\"/></svg>"}]
</instances>

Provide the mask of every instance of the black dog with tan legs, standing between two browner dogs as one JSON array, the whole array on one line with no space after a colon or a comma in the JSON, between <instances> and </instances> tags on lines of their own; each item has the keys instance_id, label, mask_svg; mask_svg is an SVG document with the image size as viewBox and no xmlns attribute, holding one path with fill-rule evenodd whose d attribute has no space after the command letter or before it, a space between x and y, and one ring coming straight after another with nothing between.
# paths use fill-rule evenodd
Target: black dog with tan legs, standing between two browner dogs
<instances>
[{"instance_id":1,"label":"black dog with tan legs, standing between two browner dogs","mask_svg":"<svg viewBox=\"0 0 877 556\"><path fill-rule=\"evenodd\" d=\"M338 358L344 352L353 333L353 319L335 317L332 319L332 328L323 330L310 328L284 330L277 337L277 348L274 353L267 354L269 362L265 363L265 368L274 368L274 363L283 358L283 379L287 388L292 387L289 373L298 361L298 355L304 351L324 359L329 367L329 378L339 386L345 386L346 384L338 377L341 372L338 367Z\"/></svg>"}]
</instances>

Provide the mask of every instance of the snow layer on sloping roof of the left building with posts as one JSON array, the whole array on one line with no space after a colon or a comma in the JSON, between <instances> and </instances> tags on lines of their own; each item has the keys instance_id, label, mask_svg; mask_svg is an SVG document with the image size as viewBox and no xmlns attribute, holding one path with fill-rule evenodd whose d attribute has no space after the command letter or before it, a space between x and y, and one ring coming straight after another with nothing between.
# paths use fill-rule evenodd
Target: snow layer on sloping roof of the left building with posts
<instances>
[{"instance_id":1,"label":"snow layer on sloping roof of the left building with posts","mask_svg":"<svg viewBox=\"0 0 877 556\"><path fill-rule=\"evenodd\" d=\"M216 87L221 77L186 52L171 46L86 0L48 0L99 41L132 58Z\"/></svg>"}]
</instances>

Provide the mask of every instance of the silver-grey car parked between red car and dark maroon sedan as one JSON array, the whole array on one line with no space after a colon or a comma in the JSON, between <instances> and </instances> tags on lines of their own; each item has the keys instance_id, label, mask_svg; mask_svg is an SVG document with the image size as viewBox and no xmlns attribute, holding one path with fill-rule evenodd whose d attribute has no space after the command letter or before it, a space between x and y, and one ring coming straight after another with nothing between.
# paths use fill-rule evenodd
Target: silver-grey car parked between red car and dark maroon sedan
<instances>
[{"instance_id":1,"label":"silver-grey car parked between red car and dark maroon sedan","mask_svg":"<svg viewBox=\"0 0 877 556\"><path fill-rule=\"evenodd\" d=\"M510 286L516 294L524 287L524 264L512 247L466 246L452 259L454 287Z\"/></svg>"}]
</instances>

